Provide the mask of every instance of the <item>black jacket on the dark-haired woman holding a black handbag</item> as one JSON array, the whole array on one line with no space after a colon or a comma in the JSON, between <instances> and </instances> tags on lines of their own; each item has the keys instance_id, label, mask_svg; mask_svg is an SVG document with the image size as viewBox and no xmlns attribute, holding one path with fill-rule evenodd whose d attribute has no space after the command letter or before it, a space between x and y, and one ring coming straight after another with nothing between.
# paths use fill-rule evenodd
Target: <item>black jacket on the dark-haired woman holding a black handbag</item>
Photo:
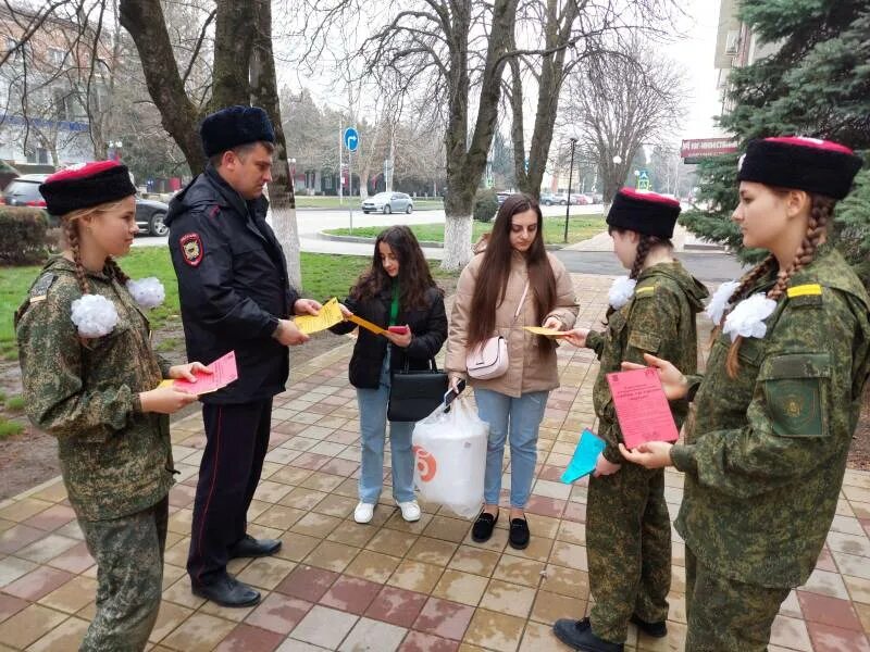
<instances>
[{"instance_id":1,"label":"black jacket on the dark-haired woman holding a black handbag","mask_svg":"<svg viewBox=\"0 0 870 652\"><path fill-rule=\"evenodd\" d=\"M363 319L386 328L389 324L391 300L393 294L387 289L375 300L364 303L353 301L348 297L345 305ZM405 310L399 306L397 323L402 326L408 324L413 335L407 349L390 344L389 340L382 335L375 335L371 330L360 328L349 367L350 384L353 387L360 389L377 388L387 344L393 347L389 366L394 372L405 368L406 360L410 369L425 369L428 367L430 359L435 358L440 351L444 340L447 339L447 314L444 310L444 299L437 288L428 289L426 304L427 308L424 310ZM344 335L356 327L357 325L352 322L341 322L333 326L331 330L337 335Z\"/></svg>"}]
</instances>

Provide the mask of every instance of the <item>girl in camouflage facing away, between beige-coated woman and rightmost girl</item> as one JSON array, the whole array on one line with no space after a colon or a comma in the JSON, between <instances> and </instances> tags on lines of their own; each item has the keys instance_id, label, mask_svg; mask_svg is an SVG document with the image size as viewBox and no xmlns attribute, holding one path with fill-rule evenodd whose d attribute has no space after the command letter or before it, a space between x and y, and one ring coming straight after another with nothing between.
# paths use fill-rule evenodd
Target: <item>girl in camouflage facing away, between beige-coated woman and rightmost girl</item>
<instances>
[{"instance_id":1,"label":"girl in camouflage facing away, between beige-coated woman and rightmost girl","mask_svg":"<svg viewBox=\"0 0 870 652\"><path fill-rule=\"evenodd\" d=\"M671 587L671 519L664 503L664 473L626 464L607 375L623 361L643 362L644 353L673 356L686 368L697 366L695 315L707 289L671 256L680 203L652 192L622 189L607 223L626 278L611 290L607 330L575 329L572 343L593 349L600 360L593 402L598 434L607 442L586 504L586 551L591 617L564 618L557 637L580 650L622 650L629 623L657 637L667 634ZM631 280L629 280L631 279ZM636 285L635 285L636 284ZM688 404L671 404L678 427Z\"/></svg>"}]
</instances>

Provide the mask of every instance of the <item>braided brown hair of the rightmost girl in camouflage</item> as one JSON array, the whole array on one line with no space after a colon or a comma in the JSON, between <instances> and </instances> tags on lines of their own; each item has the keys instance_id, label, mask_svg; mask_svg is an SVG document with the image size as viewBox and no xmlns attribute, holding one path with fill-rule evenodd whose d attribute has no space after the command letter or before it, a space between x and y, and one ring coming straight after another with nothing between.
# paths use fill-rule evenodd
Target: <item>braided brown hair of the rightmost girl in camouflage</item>
<instances>
[{"instance_id":1,"label":"braided brown hair of the rightmost girl in camouflage","mask_svg":"<svg viewBox=\"0 0 870 652\"><path fill-rule=\"evenodd\" d=\"M776 195L781 196L787 192L787 190L782 188L770 189ZM768 290L768 299L779 301L780 297L782 297L785 292L792 276L812 262L812 259L816 256L816 249L819 246L819 240L821 240L822 236L828 230L828 225L833 217L834 206L836 205L835 199L825 197L824 195L812 193L809 193L809 199L810 212L809 221L807 222L807 233L804 235L804 239L800 242L800 246L797 248L795 256L792 259L792 263L788 265L788 267L785 269L780 269L776 273L776 283ZM746 276L743 277L743 279L741 279L741 285L736 290L734 290L734 293L731 294L729 303L733 304L743 299L744 296L753 288L756 281L758 281L760 278L763 278L767 274L770 274L775 267L776 259L773 256L773 254L768 255L763 261L750 269ZM721 324L719 327L721 327ZM714 333L718 333L718 328ZM739 353L742 342L743 337L738 336L729 348L728 360L725 361L725 371L728 372L730 378L735 378L737 376L737 372L739 371L739 360L737 355Z\"/></svg>"}]
</instances>

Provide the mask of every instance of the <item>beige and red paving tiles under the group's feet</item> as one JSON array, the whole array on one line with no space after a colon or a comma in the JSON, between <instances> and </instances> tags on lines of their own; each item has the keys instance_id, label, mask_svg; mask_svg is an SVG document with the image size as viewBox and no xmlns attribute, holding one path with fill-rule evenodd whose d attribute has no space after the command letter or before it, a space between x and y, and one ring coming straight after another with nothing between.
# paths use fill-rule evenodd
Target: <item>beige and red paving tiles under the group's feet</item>
<instances>
[{"instance_id":1,"label":"beige and red paving tiles under the group's feet","mask_svg":"<svg viewBox=\"0 0 870 652\"><path fill-rule=\"evenodd\" d=\"M574 275L580 324L599 324L610 278ZM270 452L249 513L250 532L283 540L271 559L234 560L231 570L257 586L256 607L227 610L194 597L184 564L194 488L204 447L201 418L173 425L181 482L170 496L161 613L150 650L192 652L535 652L566 650L555 618L581 617L589 601L584 482L558 481L584 427L595 428L597 361L558 351L554 391L538 440L538 467L524 551L494 537L471 540L469 521L423 504L405 523L389 473L371 525L352 521L359 477L359 414L347 383L352 342L293 369L275 398ZM388 466L388 456L387 463ZM506 460L506 482L510 467ZM675 515L681 474L666 474ZM505 494L506 498L507 494ZM837 515L816 573L793 591L776 619L771 650L868 651L870 634L870 473L848 471ZM626 649L681 650L685 638L684 547L674 532L669 638L630 627ZM60 478L0 502L0 651L75 650L92 617L96 566L83 543Z\"/></svg>"}]
</instances>

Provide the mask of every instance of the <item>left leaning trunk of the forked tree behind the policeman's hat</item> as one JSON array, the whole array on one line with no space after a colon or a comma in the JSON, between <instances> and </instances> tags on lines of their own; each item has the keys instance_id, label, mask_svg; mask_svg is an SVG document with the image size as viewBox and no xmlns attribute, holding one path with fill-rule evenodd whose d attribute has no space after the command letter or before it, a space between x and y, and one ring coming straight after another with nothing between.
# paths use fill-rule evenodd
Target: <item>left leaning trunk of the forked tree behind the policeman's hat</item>
<instances>
[{"instance_id":1,"label":"left leaning trunk of the forked tree behind the policeman's hat","mask_svg":"<svg viewBox=\"0 0 870 652\"><path fill-rule=\"evenodd\" d=\"M121 24L139 51L148 92L160 111L163 128L178 143L190 170L204 170L206 155L197 129L199 115L178 74L160 0L121 0L120 10Z\"/></svg>"}]
</instances>

